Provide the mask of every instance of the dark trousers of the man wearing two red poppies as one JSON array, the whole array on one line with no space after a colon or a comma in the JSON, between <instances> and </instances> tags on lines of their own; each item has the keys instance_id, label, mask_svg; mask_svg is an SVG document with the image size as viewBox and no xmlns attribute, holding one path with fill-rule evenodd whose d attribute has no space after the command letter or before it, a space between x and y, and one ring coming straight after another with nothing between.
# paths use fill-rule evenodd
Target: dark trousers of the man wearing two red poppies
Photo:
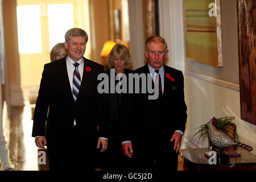
<instances>
[{"instance_id":1,"label":"dark trousers of the man wearing two red poppies","mask_svg":"<svg viewBox=\"0 0 256 182\"><path fill-rule=\"evenodd\" d=\"M146 135L141 135L134 142L134 159L137 171L151 172L163 176L177 171L177 153L174 151L172 136L164 133L159 117L152 117L150 125L144 129Z\"/></svg>"}]
</instances>

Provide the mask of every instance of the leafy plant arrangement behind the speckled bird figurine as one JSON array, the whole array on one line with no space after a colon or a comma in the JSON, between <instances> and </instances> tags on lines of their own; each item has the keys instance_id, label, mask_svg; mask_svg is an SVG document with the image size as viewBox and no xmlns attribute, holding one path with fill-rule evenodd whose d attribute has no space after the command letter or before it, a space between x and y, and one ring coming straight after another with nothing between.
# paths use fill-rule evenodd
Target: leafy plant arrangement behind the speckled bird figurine
<instances>
[{"instance_id":1,"label":"leafy plant arrangement behind the speckled bird figurine","mask_svg":"<svg viewBox=\"0 0 256 182\"><path fill-rule=\"evenodd\" d=\"M224 131L225 133L227 133L231 137L234 137L234 139L236 139L238 141L239 137L236 133L236 125L234 125L234 123L232 123L232 120L234 118L235 117L224 117L224 118L213 117L210 121L213 122L213 125L216 126L216 128L218 130ZM199 129L199 131L197 131L197 133L195 135L193 135L193 137L195 137L197 134L199 134L200 137L197 141L197 144L200 142L200 140L202 140L202 144L203 144L204 139L208 137L207 125L206 124L201 125L197 129ZM192 140L193 140L193 137L192 137ZM209 142L209 146L210 146L210 142Z\"/></svg>"}]
</instances>

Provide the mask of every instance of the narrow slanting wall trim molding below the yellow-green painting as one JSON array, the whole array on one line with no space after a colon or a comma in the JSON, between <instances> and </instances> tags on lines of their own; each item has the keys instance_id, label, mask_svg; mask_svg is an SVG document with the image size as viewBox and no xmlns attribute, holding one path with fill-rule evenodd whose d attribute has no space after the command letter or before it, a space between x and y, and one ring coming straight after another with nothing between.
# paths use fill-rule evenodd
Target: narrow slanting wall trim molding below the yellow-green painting
<instances>
[{"instance_id":1,"label":"narrow slanting wall trim molding below the yellow-green painting","mask_svg":"<svg viewBox=\"0 0 256 182\"><path fill-rule=\"evenodd\" d=\"M232 84L228 81L219 80L217 78L213 78L213 77L210 77L207 75L202 75L200 73L195 73L195 72L191 72L191 71L184 71L184 75L199 78L200 80L204 80L204 81L216 84L216 85L224 86L226 88L233 89L238 92L240 91L240 85Z\"/></svg>"}]
</instances>

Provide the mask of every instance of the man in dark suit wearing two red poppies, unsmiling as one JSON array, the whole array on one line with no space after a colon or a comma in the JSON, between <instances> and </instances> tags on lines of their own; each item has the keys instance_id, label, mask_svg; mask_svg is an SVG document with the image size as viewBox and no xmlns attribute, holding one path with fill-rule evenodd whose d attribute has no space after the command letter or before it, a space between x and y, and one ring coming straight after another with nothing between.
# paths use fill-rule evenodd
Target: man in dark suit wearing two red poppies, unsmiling
<instances>
[{"instance_id":1,"label":"man in dark suit wearing two red poppies, unsmiling","mask_svg":"<svg viewBox=\"0 0 256 182\"><path fill-rule=\"evenodd\" d=\"M184 77L181 71L164 65L168 49L162 37L150 36L144 52L148 64L134 73L151 74L147 79L159 86L159 96L150 100L147 91L123 98L123 151L130 158L133 156L135 171L167 174L177 171L176 152L187 120ZM159 78L155 80L157 73ZM139 86L146 85L145 82L141 81Z\"/></svg>"}]
</instances>

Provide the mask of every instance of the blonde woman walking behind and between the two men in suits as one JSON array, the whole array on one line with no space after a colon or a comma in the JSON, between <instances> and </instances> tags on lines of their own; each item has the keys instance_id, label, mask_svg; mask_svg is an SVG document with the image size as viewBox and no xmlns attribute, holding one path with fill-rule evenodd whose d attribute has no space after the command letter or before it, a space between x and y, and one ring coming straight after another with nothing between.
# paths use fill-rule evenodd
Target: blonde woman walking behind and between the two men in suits
<instances>
[{"instance_id":1,"label":"blonde woman walking behind and between the two men in suits","mask_svg":"<svg viewBox=\"0 0 256 182\"><path fill-rule=\"evenodd\" d=\"M110 72L115 72L115 76L118 73L124 73L128 78L128 74L131 73L131 69L128 69L131 65L131 54L127 47L122 44L115 44L112 51L108 55L108 63L110 68L105 73L110 78ZM121 78L115 81L115 85L119 84ZM128 81L127 81L128 83ZM127 84L128 86L128 84ZM105 154L102 154L102 168L104 171L112 172L127 172L131 166L131 160L126 158L122 151L122 134L121 134L121 122L119 121L119 111L122 104L123 93L110 93L110 81L109 81L109 108L110 108L110 132L109 132L109 146Z\"/></svg>"}]
</instances>

